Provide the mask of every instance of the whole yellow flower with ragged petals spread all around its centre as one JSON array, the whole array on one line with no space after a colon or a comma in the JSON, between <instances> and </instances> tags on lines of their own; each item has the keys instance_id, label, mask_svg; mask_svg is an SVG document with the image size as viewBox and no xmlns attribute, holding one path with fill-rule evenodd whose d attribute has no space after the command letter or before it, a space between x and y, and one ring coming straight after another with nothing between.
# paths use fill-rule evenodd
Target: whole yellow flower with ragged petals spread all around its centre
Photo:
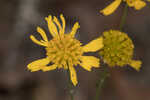
<instances>
[{"instance_id":1,"label":"whole yellow flower with ragged petals spread all around its centre","mask_svg":"<svg viewBox=\"0 0 150 100\"><path fill-rule=\"evenodd\" d=\"M54 16L48 16L45 20L48 23L48 29L53 39L48 40L46 33L40 27L37 27L38 33L43 40L37 40L33 35L31 40L46 49L46 58L36 60L27 65L27 68L34 71L50 71L56 68L64 68L69 70L72 83L76 86L77 75L74 66L80 65L85 70L91 71L92 67L98 68L100 60L94 56L83 56L85 52L95 52L103 47L102 37L91 41L85 46L81 46L79 40L75 39L75 34L79 23L76 22L69 34L65 34L65 18L60 15L62 24ZM49 64L49 65L48 65ZM51 64L51 65L50 65Z\"/></svg>"}]
</instances>

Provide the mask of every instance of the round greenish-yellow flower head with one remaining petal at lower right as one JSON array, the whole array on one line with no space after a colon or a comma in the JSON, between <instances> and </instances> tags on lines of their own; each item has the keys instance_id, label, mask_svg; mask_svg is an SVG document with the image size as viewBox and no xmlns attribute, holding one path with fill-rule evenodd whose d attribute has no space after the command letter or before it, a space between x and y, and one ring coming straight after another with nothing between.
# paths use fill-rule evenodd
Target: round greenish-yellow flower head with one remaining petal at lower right
<instances>
[{"instance_id":1,"label":"round greenish-yellow flower head with one remaining petal at lower right","mask_svg":"<svg viewBox=\"0 0 150 100\"><path fill-rule=\"evenodd\" d=\"M103 33L104 47L100 51L105 63L110 67L131 65L139 71L141 61L132 60L134 45L126 33L109 30Z\"/></svg>"}]
</instances>

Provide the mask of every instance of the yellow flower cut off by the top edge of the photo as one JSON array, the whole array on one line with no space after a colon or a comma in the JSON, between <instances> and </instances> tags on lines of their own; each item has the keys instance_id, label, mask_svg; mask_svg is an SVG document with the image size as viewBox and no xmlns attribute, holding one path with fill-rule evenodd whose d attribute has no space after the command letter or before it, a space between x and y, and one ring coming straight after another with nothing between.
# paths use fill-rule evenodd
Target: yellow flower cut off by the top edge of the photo
<instances>
[{"instance_id":1,"label":"yellow flower cut off by the top edge of the photo","mask_svg":"<svg viewBox=\"0 0 150 100\"><path fill-rule=\"evenodd\" d=\"M106 8L100 10L100 12L106 16L110 15L119 7L122 1L126 2L129 7L134 7L136 10L140 10L146 6L146 3L143 0L114 0Z\"/></svg>"}]
</instances>

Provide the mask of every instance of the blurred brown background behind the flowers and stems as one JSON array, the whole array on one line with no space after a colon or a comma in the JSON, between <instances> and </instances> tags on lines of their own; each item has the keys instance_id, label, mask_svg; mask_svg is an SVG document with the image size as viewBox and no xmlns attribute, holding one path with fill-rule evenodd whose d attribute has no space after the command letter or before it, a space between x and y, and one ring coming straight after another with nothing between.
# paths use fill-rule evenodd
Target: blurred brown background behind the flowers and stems
<instances>
[{"instance_id":1,"label":"blurred brown background behind the flowers and stems","mask_svg":"<svg viewBox=\"0 0 150 100\"><path fill-rule=\"evenodd\" d=\"M0 0L0 100L69 100L64 70L26 70L31 61L45 57L45 50L34 44L36 27L47 30L49 14L64 14L66 30L76 21L81 28L77 38L86 44L103 31L118 29L124 4L110 16L99 13L112 0ZM140 72L129 66L111 70L99 100L150 100L150 4L140 11L129 8L124 32L133 39L135 59L143 61ZM48 33L49 35L49 33ZM50 37L51 38L51 37ZM79 84L75 100L93 100L100 69L87 72L76 67Z\"/></svg>"}]
</instances>

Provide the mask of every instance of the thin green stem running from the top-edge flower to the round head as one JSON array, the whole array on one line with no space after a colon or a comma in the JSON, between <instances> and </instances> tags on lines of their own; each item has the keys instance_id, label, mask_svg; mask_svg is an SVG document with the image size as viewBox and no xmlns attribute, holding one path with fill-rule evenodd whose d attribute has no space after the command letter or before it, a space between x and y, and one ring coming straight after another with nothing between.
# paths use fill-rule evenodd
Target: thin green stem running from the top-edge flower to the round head
<instances>
[{"instance_id":1,"label":"thin green stem running from the top-edge flower to the round head","mask_svg":"<svg viewBox=\"0 0 150 100\"><path fill-rule=\"evenodd\" d=\"M123 30L123 27L124 27L125 22L126 22L127 14L128 14L128 4L126 3L126 5L125 5L125 7L124 7L123 15L122 15L122 17L121 17L120 31Z\"/></svg>"}]
</instances>

